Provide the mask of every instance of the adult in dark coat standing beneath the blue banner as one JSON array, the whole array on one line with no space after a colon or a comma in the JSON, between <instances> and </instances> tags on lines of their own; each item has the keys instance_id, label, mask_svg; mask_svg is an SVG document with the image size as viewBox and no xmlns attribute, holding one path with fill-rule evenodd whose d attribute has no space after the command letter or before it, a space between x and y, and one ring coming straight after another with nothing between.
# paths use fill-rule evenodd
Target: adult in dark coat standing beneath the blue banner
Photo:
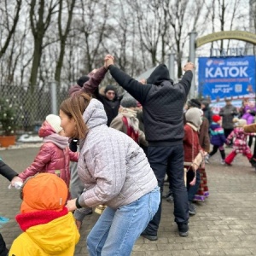
<instances>
[{"instance_id":1,"label":"adult in dark coat standing beneath the blue banner","mask_svg":"<svg viewBox=\"0 0 256 256\"><path fill-rule=\"evenodd\" d=\"M233 118L238 115L237 109L232 105L230 99L225 99L225 106L220 108L218 115L222 117L222 128L224 129L224 136L227 138L234 130Z\"/></svg>"}]
</instances>

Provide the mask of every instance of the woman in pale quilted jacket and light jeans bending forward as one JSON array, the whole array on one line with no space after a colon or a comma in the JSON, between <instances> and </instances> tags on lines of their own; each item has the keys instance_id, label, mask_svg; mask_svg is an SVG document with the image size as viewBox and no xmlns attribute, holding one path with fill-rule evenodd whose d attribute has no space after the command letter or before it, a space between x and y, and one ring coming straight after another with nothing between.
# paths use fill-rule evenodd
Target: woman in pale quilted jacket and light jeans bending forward
<instances>
[{"instance_id":1,"label":"woman in pale quilted jacket and light jeans bending forward","mask_svg":"<svg viewBox=\"0 0 256 256\"><path fill-rule=\"evenodd\" d=\"M66 136L79 138L78 172L84 183L83 194L67 201L67 208L108 206L87 237L90 255L131 255L160 203L143 149L109 128L102 103L87 94L62 102L60 116Z\"/></svg>"}]
</instances>

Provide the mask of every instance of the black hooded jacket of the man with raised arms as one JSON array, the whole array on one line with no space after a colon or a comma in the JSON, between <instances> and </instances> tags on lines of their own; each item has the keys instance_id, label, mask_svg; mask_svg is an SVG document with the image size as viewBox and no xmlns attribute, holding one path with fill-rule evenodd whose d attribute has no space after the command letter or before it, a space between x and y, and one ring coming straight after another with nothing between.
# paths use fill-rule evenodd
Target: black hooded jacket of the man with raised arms
<instances>
[{"instance_id":1,"label":"black hooded jacket of the man with raised arms","mask_svg":"<svg viewBox=\"0 0 256 256\"><path fill-rule=\"evenodd\" d=\"M113 79L143 105L149 146L183 143L183 106L191 86L191 71L184 73L177 84L173 84L164 64L154 69L147 84L139 83L113 65L109 66L109 71Z\"/></svg>"}]
</instances>

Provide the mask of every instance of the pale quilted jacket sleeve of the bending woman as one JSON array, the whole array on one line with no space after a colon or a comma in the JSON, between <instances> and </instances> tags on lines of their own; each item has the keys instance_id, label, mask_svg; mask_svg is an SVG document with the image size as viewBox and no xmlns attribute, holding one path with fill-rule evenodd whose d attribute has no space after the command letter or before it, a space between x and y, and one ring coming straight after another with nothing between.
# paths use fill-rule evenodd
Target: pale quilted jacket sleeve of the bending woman
<instances>
[{"instance_id":1,"label":"pale quilted jacket sleeve of the bending woman","mask_svg":"<svg viewBox=\"0 0 256 256\"><path fill-rule=\"evenodd\" d=\"M82 207L96 207L119 195L127 172L125 150L124 145L113 138L91 145L86 158L93 161L87 168L96 179L96 186L80 195L79 204Z\"/></svg>"}]
</instances>

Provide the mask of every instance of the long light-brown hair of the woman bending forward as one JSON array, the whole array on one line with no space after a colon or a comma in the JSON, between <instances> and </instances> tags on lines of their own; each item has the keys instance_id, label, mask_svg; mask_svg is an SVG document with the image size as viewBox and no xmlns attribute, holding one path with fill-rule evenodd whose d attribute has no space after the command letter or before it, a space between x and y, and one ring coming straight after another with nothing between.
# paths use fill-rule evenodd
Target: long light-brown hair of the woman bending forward
<instances>
[{"instance_id":1,"label":"long light-brown hair of the woman bending forward","mask_svg":"<svg viewBox=\"0 0 256 256\"><path fill-rule=\"evenodd\" d=\"M90 95L86 93L72 96L61 102L61 111L67 114L69 119L74 119L76 130L73 138L85 138L89 129L84 123L83 113L90 103Z\"/></svg>"}]
</instances>

